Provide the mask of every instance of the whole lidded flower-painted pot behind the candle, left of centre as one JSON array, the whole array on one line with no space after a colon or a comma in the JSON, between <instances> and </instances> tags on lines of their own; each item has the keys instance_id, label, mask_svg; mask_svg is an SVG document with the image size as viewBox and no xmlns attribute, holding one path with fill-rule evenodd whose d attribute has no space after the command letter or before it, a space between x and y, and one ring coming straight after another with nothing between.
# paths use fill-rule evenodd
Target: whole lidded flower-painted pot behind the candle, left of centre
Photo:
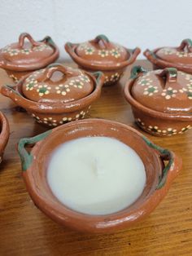
<instances>
[{"instance_id":1,"label":"whole lidded flower-painted pot behind the candle, left of centre","mask_svg":"<svg viewBox=\"0 0 192 256\"><path fill-rule=\"evenodd\" d=\"M15 86L2 86L2 95L26 109L37 122L53 127L84 118L101 95L103 82L103 73L51 64L21 78Z\"/></svg>"}]
</instances>

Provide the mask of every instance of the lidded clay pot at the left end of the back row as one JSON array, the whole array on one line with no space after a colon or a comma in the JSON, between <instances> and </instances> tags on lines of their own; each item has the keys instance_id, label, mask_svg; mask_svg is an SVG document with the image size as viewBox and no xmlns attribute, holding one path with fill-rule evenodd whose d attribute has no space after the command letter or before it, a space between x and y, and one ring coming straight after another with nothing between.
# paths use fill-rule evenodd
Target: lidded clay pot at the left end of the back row
<instances>
[{"instance_id":1,"label":"lidded clay pot at the left end of the back row","mask_svg":"<svg viewBox=\"0 0 192 256\"><path fill-rule=\"evenodd\" d=\"M28 39L28 42L24 42ZM30 34L21 33L19 42L0 50L0 68L18 82L34 70L45 68L59 57L59 49L50 37L34 41Z\"/></svg>"}]
</instances>

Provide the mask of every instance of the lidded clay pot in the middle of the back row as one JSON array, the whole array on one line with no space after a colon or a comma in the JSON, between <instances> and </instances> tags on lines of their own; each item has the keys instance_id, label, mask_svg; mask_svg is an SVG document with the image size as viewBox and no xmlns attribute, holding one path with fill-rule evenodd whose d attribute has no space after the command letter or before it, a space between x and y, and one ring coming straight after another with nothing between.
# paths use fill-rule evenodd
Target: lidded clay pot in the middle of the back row
<instances>
[{"instance_id":1,"label":"lidded clay pot in the middle of the back row","mask_svg":"<svg viewBox=\"0 0 192 256\"><path fill-rule=\"evenodd\" d=\"M80 68L89 72L102 71L105 75L105 86L116 84L124 69L132 64L140 53L139 48L127 49L110 42L104 35L99 35L89 42L67 42L65 50Z\"/></svg>"}]
</instances>

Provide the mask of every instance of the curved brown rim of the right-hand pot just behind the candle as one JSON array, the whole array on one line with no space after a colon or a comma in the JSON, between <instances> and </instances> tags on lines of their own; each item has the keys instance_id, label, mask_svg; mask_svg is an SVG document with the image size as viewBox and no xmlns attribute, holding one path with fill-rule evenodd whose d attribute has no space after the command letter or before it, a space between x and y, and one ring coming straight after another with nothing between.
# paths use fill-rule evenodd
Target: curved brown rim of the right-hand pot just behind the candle
<instances>
[{"instance_id":1,"label":"curved brown rim of the right-hand pot just behind the candle","mask_svg":"<svg viewBox=\"0 0 192 256\"><path fill-rule=\"evenodd\" d=\"M169 120L178 120L178 121L192 121L192 115L185 113L164 113L156 111L152 108L147 108L143 104L139 103L136 99L133 98L131 94L132 86L136 78L129 78L129 81L126 82L124 86L124 96L128 100L129 104L133 108L137 108L138 111L146 113L147 116L158 117L159 119L169 119Z\"/></svg>"}]
</instances>

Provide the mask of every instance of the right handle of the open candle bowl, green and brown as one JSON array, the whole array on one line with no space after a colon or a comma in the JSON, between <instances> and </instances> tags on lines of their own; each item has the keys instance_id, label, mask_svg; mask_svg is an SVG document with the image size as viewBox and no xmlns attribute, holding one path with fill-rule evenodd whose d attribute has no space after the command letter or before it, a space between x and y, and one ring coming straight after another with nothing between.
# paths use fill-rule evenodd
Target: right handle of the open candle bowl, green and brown
<instances>
[{"instance_id":1,"label":"right handle of the open candle bowl, green and brown","mask_svg":"<svg viewBox=\"0 0 192 256\"><path fill-rule=\"evenodd\" d=\"M155 145L149 139L146 139L146 137L143 137L143 139L149 147L154 148L155 152L159 153L159 157L162 161L168 161L167 165L164 166L162 173L159 175L159 183L156 190L164 188L164 185L171 183L177 176L179 170L181 170L181 158L177 157L174 152Z\"/></svg>"}]
</instances>

